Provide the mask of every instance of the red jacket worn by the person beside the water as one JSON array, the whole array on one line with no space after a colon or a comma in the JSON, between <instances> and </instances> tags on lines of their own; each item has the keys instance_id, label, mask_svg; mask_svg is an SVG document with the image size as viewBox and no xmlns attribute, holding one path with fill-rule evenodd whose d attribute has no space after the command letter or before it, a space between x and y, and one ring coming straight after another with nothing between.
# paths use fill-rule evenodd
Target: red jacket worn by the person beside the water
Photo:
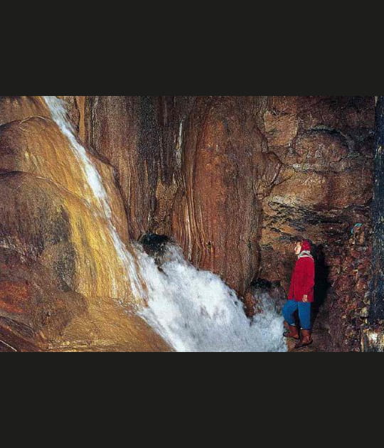
<instances>
[{"instance_id":1,"label":"red jacket worn by the person beside the water","mask_svg":"<svg viewBox=\"0 0 384 448\"><path fill-rule=\"evenodd\" d=\"M303 302L304 294L308 302L314 302L314 260L311 257L300 257L294 265L287 298Z\"/></svg>"}]
</instances>

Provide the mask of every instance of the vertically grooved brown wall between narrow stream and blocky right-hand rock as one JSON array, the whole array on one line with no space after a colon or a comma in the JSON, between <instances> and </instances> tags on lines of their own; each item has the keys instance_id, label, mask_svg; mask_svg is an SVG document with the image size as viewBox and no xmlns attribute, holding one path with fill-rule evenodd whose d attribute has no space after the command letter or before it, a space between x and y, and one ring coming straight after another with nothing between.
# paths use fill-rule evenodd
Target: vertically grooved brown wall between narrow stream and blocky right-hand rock
<instances>
[{"instance_id":1,"label":"vertically grooved brown wall between narrow stream and blocky right-hand rock","mask_svg":"<svg viewBox=\"0 0 384 448\"><path fill-rule=\"evenodd\" d=\"M87 142L117 167L132 238L174 238L244 293L259 267L260 197L279 171L259 97L96 97Z\"/></svg>"}]
</instances>

